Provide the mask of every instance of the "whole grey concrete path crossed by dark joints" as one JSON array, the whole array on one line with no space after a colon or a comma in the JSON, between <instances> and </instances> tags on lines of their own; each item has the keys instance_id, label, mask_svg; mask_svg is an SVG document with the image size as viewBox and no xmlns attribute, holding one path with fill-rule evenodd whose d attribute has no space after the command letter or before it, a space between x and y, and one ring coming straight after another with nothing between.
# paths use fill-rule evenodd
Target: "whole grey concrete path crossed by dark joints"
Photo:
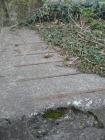
<instances>
[{"instance_id":1,"label":"whole grey concrete path crossed by dark joints","mask_svg":"<svg viewBox=\"0 0 105 140\"><path fill-rule=\"evenodd\" d=\"M105 105L105 78L62 67L63 58L34 31L3 29L0 39L0 118L54 104Z\"/></svg>"}]
</instances>

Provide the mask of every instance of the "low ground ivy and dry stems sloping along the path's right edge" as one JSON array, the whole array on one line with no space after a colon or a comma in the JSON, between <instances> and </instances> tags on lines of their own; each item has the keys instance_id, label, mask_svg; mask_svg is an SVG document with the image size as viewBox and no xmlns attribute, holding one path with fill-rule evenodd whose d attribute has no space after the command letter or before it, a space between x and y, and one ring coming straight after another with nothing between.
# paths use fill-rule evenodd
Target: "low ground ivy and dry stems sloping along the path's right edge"
<instances>
[{"instance_id":1,"label":"low ground ivy and dry stems sloping along the path's right edge","mask_svg":"<svg viewBox=\"0 0 105 140\"><path fill-rule=\"evenodd\" d=\"M96 38L97 42L97 40L102 39L102 36L100 38L94 34L93 37L90 33L86 33L81 38L78 36L81 33L80 29L72 24L53 25L51 28L48 28L47 25L40 32L48 43L60 46L70 56L79 57L77 67L80 70L105 76L105 46L98 47L94 40Z\"/></svg>"}]
</instances>

